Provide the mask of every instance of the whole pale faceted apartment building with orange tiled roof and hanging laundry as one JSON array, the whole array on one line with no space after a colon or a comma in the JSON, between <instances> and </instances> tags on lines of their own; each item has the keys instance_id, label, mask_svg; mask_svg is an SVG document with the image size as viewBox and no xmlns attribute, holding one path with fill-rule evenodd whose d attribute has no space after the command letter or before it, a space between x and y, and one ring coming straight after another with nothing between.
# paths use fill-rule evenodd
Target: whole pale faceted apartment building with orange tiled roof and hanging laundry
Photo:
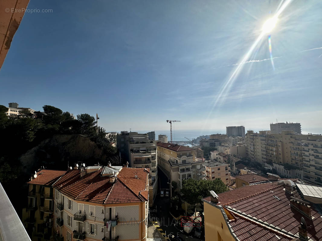
<instances>
[{"instance_id":1,"label":"whole pale faceted apartment building with orange tiled roof and hanging laundry","mask_svg":"<svg viewBox=\"0 0 322 241\"><path fill-rule=\"evenodd\" d=\"M53 184L57 241L147 239L147 168L89 166Z\"/></svg>"}]
</instances>

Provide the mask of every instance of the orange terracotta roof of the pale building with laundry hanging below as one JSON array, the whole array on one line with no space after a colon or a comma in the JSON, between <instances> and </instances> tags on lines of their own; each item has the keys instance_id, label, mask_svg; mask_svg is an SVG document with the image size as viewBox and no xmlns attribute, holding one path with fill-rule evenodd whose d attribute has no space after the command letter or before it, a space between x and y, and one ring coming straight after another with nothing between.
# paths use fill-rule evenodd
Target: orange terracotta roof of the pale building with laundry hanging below
<instances>
[{"instance_id":1,"label":"orange terracotta roof of the pale building with laundry hanging below","mask_svg":"<svg viewBox=\"0 0 322 241\"><path fill-rule=\"evenodd\" d=\"M74 200L96 203L147 201L148 168L122 168L115 183L102 176L102 169L81 177L80 169L69 170L53 187ZM138 178L135 177L137 175ZM141 194L140 194L141 192ZM143 192L143 193L142 193Z\"/></svg>"}]
</instances>

